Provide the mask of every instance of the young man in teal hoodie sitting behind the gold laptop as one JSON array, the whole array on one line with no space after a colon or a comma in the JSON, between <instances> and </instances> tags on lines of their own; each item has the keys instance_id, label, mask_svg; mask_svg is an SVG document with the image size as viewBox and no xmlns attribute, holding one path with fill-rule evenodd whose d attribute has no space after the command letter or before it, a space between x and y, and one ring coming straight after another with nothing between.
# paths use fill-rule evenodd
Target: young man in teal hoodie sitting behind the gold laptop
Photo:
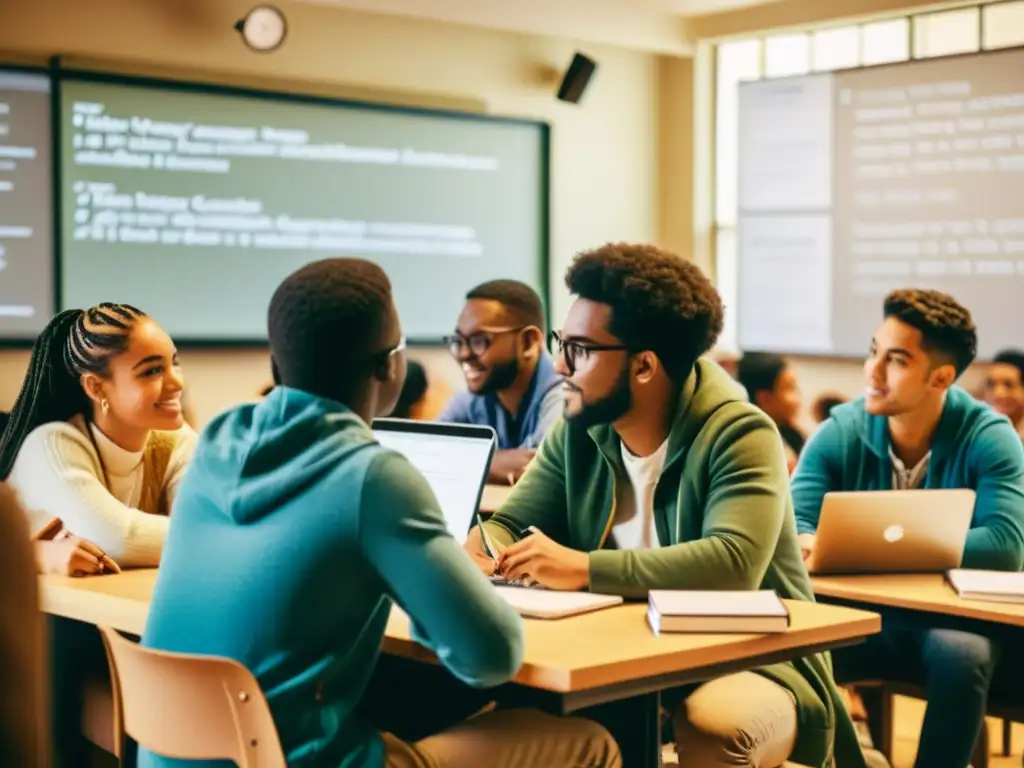
<instances>
[{"instance_id":1,"label":"young man in teal hoodie sitting behind the gold laptop","mask_svg":"<svg viewBox=\"0 0 1024 768\"><path fill-rule=\"evenodd\" d=\"M811 438L793 479L801 547L814 567L821 500L830 490L974 488L964 567L1019 570L1024 563L1024 451L1005 418L959 387L974 359L970 312L937 291L890 294L864 362L865 394L835 409ZM915 765L971 761L998 654L987 637L898 624L834 653L841 683L883 678L923 684L928 710ZM877 724L878 702L865 691ZM872 707L871 705L874 705ZM873 710L873 712L872 712Z\"/></svg>"}]
</instances>

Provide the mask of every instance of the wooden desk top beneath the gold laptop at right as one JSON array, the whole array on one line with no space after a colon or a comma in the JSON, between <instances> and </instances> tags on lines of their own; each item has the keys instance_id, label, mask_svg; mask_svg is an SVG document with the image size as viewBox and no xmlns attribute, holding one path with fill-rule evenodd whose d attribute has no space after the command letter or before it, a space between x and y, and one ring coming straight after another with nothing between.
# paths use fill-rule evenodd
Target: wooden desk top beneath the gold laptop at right
<instances>
[{"instance_id":1,"label":"wooden desk top beneath the gold laptop at right","mask_svg":"<svg viewBox=\"0 0 1024 768\"><path fill-rule=\"evenodd\" d=\"M814 577L823 597L1024 627L1024 605L964 600L941 573Z\"/></svg>"}]
</instances>

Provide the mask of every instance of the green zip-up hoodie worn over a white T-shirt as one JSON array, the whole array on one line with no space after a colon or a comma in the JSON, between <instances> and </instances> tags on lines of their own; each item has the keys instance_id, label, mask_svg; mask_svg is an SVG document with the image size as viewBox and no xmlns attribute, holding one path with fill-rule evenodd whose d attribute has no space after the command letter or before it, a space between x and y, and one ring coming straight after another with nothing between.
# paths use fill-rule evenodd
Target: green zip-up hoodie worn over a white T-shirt
<instances>
[{"instance_id":1,"label":"green zip-up hoodie worn over a white T-shirt","mask_svg":"<svg viewBox=\"0 0 1024 768\"><path fill-rule=\"evenodd\" d=\"M626 477L611 426L584 431L561 422L484 525L501 546L536 525L566 547L590 552L594 592L642 598L652 589L773 589L783 598L814 600L797 544L781 439L716 364L698 360L680 394L654 489L657 549L604 549L616 486ZM794 761L824 767L835 756L839 768L864 765L828 654L757 672L797 699Z\"/></svg>"}]
</instances>

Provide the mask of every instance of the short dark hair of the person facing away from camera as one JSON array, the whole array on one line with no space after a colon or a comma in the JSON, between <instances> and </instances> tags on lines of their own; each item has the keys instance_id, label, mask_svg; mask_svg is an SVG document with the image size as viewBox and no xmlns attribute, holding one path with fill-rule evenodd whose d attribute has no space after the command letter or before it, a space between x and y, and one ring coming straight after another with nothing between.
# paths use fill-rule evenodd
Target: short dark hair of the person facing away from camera
<instances>
[{"instance_id":1,"label":"short dark hair of the person facing away from camera","mask_svg":"<svg viewBox=\"0 0 1024 768\"><path fill-rule=\"evenodd\" d=\"M391 283L364 259L324 259L285 279L270 299L267 332L274 383L345 402L394 311Z\"/></svg>"}]
</instances>

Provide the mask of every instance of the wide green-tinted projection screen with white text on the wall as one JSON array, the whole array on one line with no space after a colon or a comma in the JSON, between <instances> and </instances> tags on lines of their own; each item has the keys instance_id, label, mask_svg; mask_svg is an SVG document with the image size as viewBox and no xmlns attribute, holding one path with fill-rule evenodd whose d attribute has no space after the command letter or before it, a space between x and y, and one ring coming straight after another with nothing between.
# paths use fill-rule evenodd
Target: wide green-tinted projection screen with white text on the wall
<instances>
[{"instance_id":1,"label":"wide green-tinted projection screen with white text on the wall","mask_svg":"<svg viewBox=\"0 0 1024 768\"><path fill-rule=\"evenodd\" d=\"M62 101L66 304L105 266L172 335L258 339L286 274L359 256L388 272L407 334L436 338L475 283L540 282L540 126L88 81Z\"/></svg>"}]
</instances>

